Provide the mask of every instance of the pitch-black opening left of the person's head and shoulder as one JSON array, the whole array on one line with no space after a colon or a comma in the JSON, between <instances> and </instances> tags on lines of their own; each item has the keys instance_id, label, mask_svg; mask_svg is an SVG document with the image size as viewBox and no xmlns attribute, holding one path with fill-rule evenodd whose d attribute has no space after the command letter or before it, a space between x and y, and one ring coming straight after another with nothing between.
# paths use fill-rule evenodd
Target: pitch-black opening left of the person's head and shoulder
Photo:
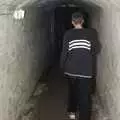
<instances>
[{"instance_id":1,"label":"pitch-black opening left of the person's head and shoulder","mask_svg":"<svg viewBox=\"0 0 120 120\"><path fill-rule=\"evenodd\" d=\"M55 41L58 60L62 49L63 36L67 30L72 28L72 13L78 9L76 7L57 7L55 9Z\"/></svg>"}]
</instances>

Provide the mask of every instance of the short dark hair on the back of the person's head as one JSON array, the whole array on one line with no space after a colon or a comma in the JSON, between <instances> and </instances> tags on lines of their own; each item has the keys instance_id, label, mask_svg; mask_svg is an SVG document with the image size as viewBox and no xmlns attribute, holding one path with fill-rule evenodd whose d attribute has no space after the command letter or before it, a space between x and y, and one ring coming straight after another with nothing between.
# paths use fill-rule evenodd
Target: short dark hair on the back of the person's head
<instances>
[{"instance_id":1,"label":"short dark hair on the back of the person's head","mask_svg":"<svg viewBox=\"0 0 120 120\"><path fill-rule=\"evenodd\" d=\"M75 22L75 24L81 24L82 21L84 21L84 16L81 12L75 12L72 14L72 21Z\"/></svg>"}]
</instances>

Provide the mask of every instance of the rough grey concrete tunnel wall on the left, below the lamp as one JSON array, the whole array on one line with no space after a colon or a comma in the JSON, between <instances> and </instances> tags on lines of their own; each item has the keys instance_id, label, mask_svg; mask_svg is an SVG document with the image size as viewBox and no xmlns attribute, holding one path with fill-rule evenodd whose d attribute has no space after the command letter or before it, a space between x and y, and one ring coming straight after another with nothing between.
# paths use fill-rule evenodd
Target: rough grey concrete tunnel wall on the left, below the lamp
<instances>
[{"instance_id":1,"label":"rough grey concrete tunnel wall on the left, below the lamp","mask_svg":"<svg viewBox=\"0 0 120 120\"><path fill-rule=\"evenodd\" d=\"M16 120L48 66L48 19L40 8L24 20L0 16L0 120Z\"/></svg>"}]
</instances>

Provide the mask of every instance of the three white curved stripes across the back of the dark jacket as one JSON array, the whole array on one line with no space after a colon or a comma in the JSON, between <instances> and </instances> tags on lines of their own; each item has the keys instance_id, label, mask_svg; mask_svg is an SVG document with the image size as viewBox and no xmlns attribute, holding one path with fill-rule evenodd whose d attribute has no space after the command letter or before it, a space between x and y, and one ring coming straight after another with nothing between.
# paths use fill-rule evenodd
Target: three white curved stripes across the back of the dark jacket
<instances>
[{"instance_id":1,"label":"three white curved stripes across the back of the dark jacket","mask_svg":"<svg viewBox=\"0 0 120 120\"><path fill-rule=\"evenodd\" d=\"M73 40L69 42L69 51L77 48L83 48L90 50L91 49L91 43L88 40Z\"/></svg>"}]
</instances>

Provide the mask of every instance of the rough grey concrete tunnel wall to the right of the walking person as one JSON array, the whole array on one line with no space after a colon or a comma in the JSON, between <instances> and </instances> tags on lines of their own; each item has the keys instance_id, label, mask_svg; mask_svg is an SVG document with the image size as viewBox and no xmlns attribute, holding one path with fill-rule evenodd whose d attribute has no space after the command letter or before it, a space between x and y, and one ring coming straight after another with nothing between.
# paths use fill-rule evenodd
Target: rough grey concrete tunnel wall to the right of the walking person
<instances>
[{"instance_id":1,"label":"rough grey concrete tunnel wall to the right of the walking person","mask_svg":"<svg viewBox=\"0 0 120 120\"><path fill-rule=\"evenodd\" d=\"M120 8L107 3L92 11L92 26L102 46L97 65L97 91L111 120L120 119Z\"/></svg>"}]
</instances>

